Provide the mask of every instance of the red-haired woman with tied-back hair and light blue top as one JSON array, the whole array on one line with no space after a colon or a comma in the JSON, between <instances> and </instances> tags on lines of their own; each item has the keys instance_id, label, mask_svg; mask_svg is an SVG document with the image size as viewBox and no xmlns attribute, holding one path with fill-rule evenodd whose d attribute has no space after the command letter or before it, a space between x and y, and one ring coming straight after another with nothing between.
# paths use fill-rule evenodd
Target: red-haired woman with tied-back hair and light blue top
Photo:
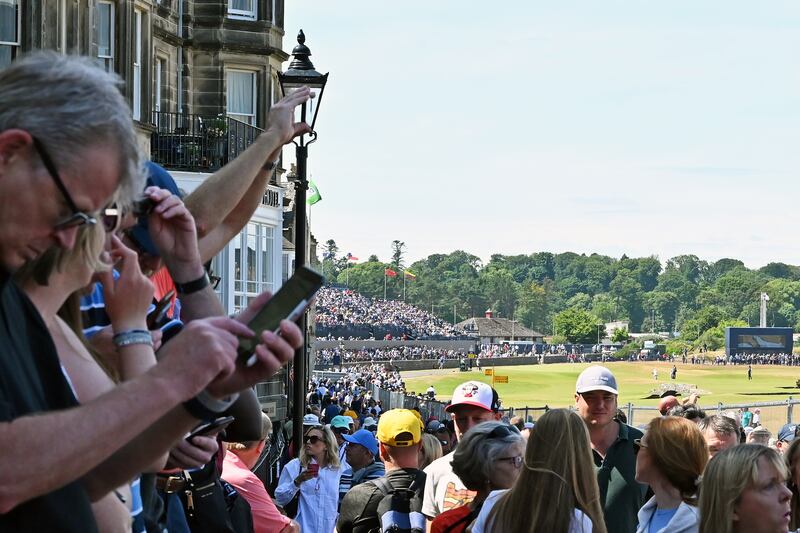
<instances>
[{"instance_id":1,"label":"red-haired woman with tied-back hair and light blue top","mask_svg":"<svg viewBox=\"0 0 800 533\"><path fill-rule=\"evenodd\" d=\"M655 418L634 441L636 481L654 496L639 510L637 533L696 533L697 489L708 446L697 424L677 416Z\"/></svg>"}]
</instances>

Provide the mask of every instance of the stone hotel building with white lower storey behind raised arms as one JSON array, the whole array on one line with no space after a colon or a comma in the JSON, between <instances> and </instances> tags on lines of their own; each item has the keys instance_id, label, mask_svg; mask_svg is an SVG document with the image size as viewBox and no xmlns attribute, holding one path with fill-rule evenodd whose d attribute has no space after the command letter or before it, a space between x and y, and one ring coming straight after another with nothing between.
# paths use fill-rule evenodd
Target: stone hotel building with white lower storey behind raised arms
<instances>
[{"instance_id":1,"label":"stone hotel building with white lower storey behind raised arms","mask_svg":"<svg viewBox=\"0 0 800 533\"><path fill-rule=\"evenodd\" d=\"M0 0L0 68L36 49L96 58L124 80L143 151L191 192L265 127L289 57L283 10L284 0ZM283 174L212 262L229 313L293 269ZM284 372L259 385L270 415L285 413L285 381Z\"/></svg>"}]
</instances>

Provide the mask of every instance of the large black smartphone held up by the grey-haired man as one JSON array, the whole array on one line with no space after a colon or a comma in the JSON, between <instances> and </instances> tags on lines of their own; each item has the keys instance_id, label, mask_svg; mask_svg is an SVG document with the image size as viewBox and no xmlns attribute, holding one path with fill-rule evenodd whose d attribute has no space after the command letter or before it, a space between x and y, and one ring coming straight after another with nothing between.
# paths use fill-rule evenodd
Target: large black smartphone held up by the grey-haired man
<instances>
[{"instance_id":1,"label":"large black smartphone held up by the grey-haired man","mask_svg":"<svg viewBox=\"0 0 800 533\"><path fill-rule=\"evenodd\" d=\"M252 366L256 361L253 352L261 334L265 331L277 333L283 319L294 322L300 318L324 282L325 278L310 268L298 267L294 275L247 324L255 332L255 337L239 337L239 361Z\"/></svg>"}]
</instances>

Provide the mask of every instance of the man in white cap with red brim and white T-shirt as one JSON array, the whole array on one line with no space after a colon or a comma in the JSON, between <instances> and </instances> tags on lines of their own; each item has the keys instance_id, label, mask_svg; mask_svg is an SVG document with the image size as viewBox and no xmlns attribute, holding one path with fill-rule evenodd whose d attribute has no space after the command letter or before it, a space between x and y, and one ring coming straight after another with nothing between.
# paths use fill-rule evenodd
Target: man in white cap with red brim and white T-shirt
<instances>
[{"instance_id":1,"label":"man in white cap with red brim and white T-shirt","mask_svg":"<svg viewBox=\"0 0 800 533\"><path fill-rule=\"evenodd\" d=\"M467 381L453 391L450 405L445 407L455 423L456 436L461 440L481 422L500 420L500 398L497 391L480 381ZM468 490L453 473L453 452L440 457L425 468L425 500L422 513L430 522L441 513L472 501L475 492Z\"/></svg>"}]
</instances>

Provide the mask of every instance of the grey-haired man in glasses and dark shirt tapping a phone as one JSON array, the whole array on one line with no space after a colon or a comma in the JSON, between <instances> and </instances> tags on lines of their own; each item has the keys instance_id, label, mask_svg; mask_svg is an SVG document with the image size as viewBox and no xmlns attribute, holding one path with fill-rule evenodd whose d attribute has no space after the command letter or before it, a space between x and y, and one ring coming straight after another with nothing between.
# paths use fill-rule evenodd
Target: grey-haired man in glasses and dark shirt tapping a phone
<instances>
[{"instance_id":1,"label":"grey-haired man in glasses and dark shirt tapping a phone","mask_svg":"<svg viewBox=\"0 0 800 533\"><path fill-rule=\"evenodd\" d=\"M142 188L136 135L118 78L90 59L38 53L0 71L0 531L97 530L90 501L127 483L302 343L261 337L236 364L230 318L196 320L142 376L79 404L39 313L11 276L50 247L75 245L116 193ZM178 280L183 281L183 280ZM240 317L253 316L266 297ZM13 422L13 423L12 423Z\"/></svg>"}]
</instances>

